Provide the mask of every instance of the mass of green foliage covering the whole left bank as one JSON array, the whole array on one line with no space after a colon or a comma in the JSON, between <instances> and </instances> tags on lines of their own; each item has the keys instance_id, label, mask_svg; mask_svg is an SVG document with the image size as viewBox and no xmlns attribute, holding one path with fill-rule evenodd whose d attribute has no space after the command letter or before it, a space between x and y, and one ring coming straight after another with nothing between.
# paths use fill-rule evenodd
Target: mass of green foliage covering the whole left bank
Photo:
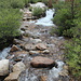
<instances>
[{"instance_id":1,"label":"mass of green foliage covering the whole left bank","mask_svg":"<svg viewBox=\"0 0 81 81\"><path fill-rule=\"evenodd\" d=\"M19 9L11 6L13 0L0 0L0 49L19 36L22 13ZM18 0L19 1L19 0Z\"/></svg>"}]
</instances>

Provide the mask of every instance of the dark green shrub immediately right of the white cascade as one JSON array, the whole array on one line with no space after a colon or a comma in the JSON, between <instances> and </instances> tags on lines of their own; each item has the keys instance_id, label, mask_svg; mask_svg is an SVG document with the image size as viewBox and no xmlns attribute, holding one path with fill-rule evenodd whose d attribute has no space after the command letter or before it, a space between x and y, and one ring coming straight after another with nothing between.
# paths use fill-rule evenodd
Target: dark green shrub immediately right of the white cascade
<instances>
[{"instance_id":1,"label":"dark green shrub immediately right of the white cascade","mask_svg":"<svg viewBox=\"0 0 81 81\"><path fill-rule=\"evenodd\" d=\"M52 19L58 26L58 35L62 36L72 36L68 32L68 29L75 27L69 9L60 9L56 12L55 17Z\"/></svg>"}]
</instances>

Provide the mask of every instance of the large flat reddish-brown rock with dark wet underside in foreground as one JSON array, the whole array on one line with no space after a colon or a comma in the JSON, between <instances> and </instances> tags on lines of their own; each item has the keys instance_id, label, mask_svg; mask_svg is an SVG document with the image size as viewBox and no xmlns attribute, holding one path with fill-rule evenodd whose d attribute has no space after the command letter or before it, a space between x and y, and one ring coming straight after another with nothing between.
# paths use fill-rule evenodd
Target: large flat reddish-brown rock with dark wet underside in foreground
<instances>
[{"instance_id":1,"label":"large flat reddish-brown rock with dark wet underside in foreground","mask_svg":"<svg viewBox=\"0 0 81 81\"><path fill-rule=\"evenodd\" d=\"M31 62L30 65L35 68L48 68L53 67L55 65L53 59L42 56L36 56Z\"/></svg>"}]
</instances>

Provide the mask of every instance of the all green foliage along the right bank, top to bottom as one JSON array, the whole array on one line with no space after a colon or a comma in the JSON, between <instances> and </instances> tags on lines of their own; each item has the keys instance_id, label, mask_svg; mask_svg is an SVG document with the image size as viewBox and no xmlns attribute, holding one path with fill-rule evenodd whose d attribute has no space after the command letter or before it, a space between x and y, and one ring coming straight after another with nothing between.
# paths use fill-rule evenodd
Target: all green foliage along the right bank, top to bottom
<instances>
[{"instance_id":1,"label":"all green foliage along the right bank, top to bottom","mask_svg":"<svg viewBox=\"0 0 81 81\"><path fill-rule=\"evenodd\" d=\"M81 0L54 5L56 14L53 22L57 28L52 29L52 33L71 37L65 46L66 63L69 71L77 79L81 78Z\"/></svg>"}]
</instances>

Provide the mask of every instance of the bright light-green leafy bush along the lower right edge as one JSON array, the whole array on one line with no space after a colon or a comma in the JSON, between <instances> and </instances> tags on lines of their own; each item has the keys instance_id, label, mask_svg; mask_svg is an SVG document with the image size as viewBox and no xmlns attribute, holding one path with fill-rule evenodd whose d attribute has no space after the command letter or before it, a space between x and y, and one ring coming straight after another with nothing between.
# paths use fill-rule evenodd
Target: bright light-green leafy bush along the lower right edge
<instances>
[{"instance_id":1,"label":"bright light-green leafy bush along the lower right edge","mask_svg":"<svg viewBox=\"0 0 81 81\"><path fill-rule=\"evenodd\" d=\"M78 79L81 77L81 38L73 38L66 44L66 57L70 73Z\"/></svg>"}]
</instances>

